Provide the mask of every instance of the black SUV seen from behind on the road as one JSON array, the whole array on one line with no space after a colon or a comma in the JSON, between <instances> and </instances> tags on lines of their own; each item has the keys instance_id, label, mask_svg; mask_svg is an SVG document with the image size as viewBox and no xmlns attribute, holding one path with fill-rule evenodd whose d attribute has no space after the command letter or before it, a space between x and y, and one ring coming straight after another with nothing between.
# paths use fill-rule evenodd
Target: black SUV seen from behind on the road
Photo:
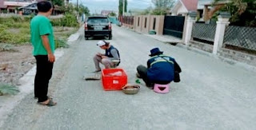
<instances>
[{"instance_id":1,"label":"black SUV seen from behind on the road","mask_svg":"<svg viewBox=\"0 0 256 130\"><path fill-rule=\"evenodd\" d=\"M91 16L85 22L85 38L104 36L112 39L112 26L110 20L103 16Z\"/></svg>"}]
</instances>

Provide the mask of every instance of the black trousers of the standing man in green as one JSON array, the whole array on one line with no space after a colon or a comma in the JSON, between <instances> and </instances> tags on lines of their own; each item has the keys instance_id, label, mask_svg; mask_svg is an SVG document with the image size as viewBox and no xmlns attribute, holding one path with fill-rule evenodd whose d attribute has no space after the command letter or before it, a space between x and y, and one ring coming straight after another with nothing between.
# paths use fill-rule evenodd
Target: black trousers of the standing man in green
<instances>
[{"instance_id":1,"label":"black trousers of the standing man in green","mask_svg":"<svg viewBox=\"0 0 256 130\"><path fill-rule=\"evenodd\" d=\"M43 102L48 100L48 85L54 63L48 61L47 55L37 55L34 57L37 61L37 73L34 78L34 97L38 97L38 102Z\"/></svg>"}]
</instances>

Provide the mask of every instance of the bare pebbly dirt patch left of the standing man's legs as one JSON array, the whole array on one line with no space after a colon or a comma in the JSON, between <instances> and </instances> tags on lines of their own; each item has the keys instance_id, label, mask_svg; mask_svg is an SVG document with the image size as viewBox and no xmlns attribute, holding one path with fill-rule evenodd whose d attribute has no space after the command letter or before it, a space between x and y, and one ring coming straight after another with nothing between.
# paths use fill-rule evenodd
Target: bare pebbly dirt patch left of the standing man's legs
<instances>
[{"instance_id":1,"label":"bare pebbly dirt patch left of the standing man's legs","mask_svg":"<svg viewBox=\"0 0 256 130\"><path fill-rule=\"evenodd\" d=\"M32 49L31 45L17 45L12 51L0 52L0 82L19 85L18 79L35 65Z\"/></svg>"}]
</instances>

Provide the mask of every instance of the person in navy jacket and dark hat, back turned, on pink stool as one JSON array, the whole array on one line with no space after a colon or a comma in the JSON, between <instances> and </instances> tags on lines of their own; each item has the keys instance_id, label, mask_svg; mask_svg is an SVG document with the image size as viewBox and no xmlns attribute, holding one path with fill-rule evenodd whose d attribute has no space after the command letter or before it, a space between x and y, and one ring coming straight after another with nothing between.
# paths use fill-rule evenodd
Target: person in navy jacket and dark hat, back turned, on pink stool
<instances>
[{"instance_id":1,"label":"person in navy jacket and dark hat, back turned, on pink stool","mask_svg":"<svg viewBox=\"0 0 256 130\"><path fill-rule=\"evenodd\" d=\"M179 73L182 72L182 69L173 57L162 53L158 48L151 49L151 58L147 61L147 68L143 65L137 67L137 77L142 78L150 89L153 89L154 83L166 85L171 81L180 81Z\"/></svg>"}]
</instances>

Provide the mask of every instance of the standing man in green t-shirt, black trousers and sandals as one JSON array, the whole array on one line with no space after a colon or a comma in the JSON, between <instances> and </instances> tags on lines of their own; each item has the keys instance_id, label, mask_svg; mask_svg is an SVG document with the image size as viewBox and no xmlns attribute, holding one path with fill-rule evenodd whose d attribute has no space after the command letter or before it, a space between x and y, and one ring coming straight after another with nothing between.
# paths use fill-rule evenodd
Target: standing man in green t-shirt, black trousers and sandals
<instances>
[{"instance_id":1,"label":"standing man in green t-shirt, black trousers and sandals","mask_svg":"<svg viewBox=\"0 0 256 130\"><path fill-rule=\"evenodd\" d=\"M34 97L38 104L54 106L57 103L47 97L48 85L54 67L54 33L47 18L53 10L50 2L38 2L38 15L30 22L31 43L33 55L37 62L37 72L34 78Z\"/></svg>"}]
</instances>

